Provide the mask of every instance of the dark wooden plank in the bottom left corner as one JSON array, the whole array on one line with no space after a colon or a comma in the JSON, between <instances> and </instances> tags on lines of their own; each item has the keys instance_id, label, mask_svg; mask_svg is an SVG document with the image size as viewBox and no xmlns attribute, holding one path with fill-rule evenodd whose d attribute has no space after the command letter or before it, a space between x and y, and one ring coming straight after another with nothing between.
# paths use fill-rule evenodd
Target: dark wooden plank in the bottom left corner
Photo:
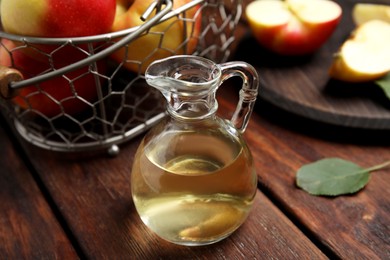
<instances>
[{"instance_id":1,"label":"dark wooden plank in the bottom left corner","mask_svg":"<svg viewBox=\"0 0 390 260\"><path fill-rule=\"evenodd\" d=\"M2 127L0 154L0 258L78 258Z\"/></svg>"}]
</instances>

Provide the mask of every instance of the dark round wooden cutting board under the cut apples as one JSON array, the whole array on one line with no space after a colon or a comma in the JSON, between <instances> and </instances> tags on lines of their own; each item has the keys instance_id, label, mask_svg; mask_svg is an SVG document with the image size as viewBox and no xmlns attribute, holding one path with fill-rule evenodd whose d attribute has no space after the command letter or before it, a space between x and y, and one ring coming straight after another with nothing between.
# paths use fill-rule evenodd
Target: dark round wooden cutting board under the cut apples
<instances>
[{"instance_id":1,"label":"dark round wooden cutting board under the cut apples","mask_svg":"<svg viewBox=\"0 0 390 260\"><path fill-rule=\"evenodd\" d=\"M390 100L377 85L348 84L328 75L332 56L354 28L351 11L356 1L338 2L343 8L342 20L314 54L275 55L260 47L247 30L233 60L252 64L260 76L259 97L287 111L346 127L390 129Z\"/></svg>"}]
</instances>

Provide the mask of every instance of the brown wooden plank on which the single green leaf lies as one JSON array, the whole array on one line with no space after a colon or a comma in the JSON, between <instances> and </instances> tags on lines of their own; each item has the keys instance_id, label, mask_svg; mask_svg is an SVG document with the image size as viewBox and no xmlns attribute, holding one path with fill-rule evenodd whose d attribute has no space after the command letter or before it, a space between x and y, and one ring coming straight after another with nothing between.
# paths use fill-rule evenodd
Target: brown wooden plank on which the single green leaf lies
<instances>
[{"instance_id":1,"label":"brown wooden plank on which the single green leaf lies","mask_svg":"<svg viewBox=\"0 0 390 260\"><path fill-rule=\"evenodd\" d=\"M390 160L389 131L333 127L262 103L246 132L261 187L329 252L341 259L388 259L389 168L375 172L359 193L315 197L295 185L304 164L339 157L370 167Z\"/></svg>"}]
</instances>

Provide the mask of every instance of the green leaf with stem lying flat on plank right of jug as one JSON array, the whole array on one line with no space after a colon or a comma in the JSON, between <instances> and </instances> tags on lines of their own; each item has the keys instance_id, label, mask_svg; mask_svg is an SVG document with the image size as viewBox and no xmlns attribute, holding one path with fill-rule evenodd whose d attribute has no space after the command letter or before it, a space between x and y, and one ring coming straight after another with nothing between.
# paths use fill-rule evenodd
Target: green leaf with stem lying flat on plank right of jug
<instances>
[{"instance_id":1,"label":"green leaf with stem lying flat on plank right of jug","mask_svg":"<svg viewBox=\"0 0 390 260\"><path fill-rule=\"evenodd\" d=\"M339 158L326 158L302 166L296 176L297 186L312 195L338 196L355 193L370 179L370 171L390 165L390 161L368 169Z\"/></svg>"}]
</instances>

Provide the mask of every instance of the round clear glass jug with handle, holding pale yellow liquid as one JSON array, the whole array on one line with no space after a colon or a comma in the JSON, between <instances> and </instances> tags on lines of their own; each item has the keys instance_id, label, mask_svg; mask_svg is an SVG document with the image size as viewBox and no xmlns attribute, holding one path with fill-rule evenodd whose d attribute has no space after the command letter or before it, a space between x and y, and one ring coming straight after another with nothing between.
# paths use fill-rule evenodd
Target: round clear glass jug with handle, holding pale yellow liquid
<instances>
[{"instance_id":1,"label":"round clear glass jug with handle, holding pale yellow liquid","mask_svg":"<svg viewBox=\"0 0 390 260\"><path fill-rule=\"evenodd\" d=\"M230 121L216 116L216 91L226 79L243 86ZM131 189L142 221L180 245L217 242L247 218L257 190L251 153L242 137L257 97L256 70L244 62L172 56L152 63L149 85L168 101L168 116L142 140Z\"/></svg>"}]
</instances>

